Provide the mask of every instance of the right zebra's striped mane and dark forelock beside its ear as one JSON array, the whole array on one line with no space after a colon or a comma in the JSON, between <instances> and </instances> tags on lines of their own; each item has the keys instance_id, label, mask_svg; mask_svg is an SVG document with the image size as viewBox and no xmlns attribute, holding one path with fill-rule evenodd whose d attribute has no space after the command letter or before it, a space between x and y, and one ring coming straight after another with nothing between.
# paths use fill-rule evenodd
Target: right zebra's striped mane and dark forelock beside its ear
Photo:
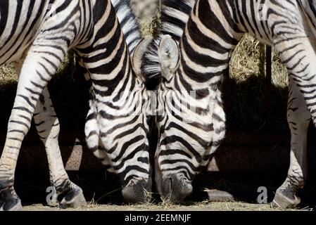
<instances>
[{"instance_id":1,"label":"right zebra's striped mane and dark forelock beside its ear","mask_svg":"<svg viewBox=\"0 0 316 225\"><path fill-rule=\"evenodd\" d=\"M181 39L184 28L189 20L189 14L195 0L162 0L161 1L161 30L148 46L142 60L141 73L146 80L147 89L156 89L160 84L161 71L158 58L158 47L161 38L169 34L176 41Z\"/></svg>"}]
</instances>

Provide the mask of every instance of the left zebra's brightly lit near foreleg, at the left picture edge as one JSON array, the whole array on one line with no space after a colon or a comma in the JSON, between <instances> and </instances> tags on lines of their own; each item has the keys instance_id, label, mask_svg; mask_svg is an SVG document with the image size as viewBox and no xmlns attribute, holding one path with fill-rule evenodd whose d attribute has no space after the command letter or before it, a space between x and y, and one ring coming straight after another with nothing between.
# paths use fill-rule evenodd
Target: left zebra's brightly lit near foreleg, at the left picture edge
<instances>
[{"instance_id":1,"label":"left zebra's brightly lit near foreleg, at the left picture edge","mask_svg":"<svg viewBox=\"0 0 316 225\"><path fill-rule=\"evenodd\" d=\"M41 41L41 45L32 46L23 63L18 81L15 102L8 122L6 143L0 159L0 193L3 205L0 210L21 210L20 198L14 190L14 173L22 141L30 129L32 115L42 91L61 65L68 51L66 45L56 50L51 41ZM34 41L35 43L36 41ZM45 43L47 44L45 46Z\"/></svg>"}]
</instances>

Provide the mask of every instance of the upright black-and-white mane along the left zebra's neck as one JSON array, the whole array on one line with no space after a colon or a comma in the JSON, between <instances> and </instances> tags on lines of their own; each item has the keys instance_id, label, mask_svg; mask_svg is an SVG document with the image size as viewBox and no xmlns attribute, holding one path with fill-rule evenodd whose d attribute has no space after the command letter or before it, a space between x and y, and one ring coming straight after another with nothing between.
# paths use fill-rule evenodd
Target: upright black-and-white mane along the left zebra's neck
<instances>
[{"instance_id":1,"label":"upright black-and-white mane along the left zebra's neck","mask_svg":"<svg viewBox=\"0 0 316 225\"><path fill-rule=\"evenodd\" d=\"M139 21L132 11L130 0L111 0L111 2L118 16L129 53L132 55L142 38Z\"/></svg>"}]
</instances>

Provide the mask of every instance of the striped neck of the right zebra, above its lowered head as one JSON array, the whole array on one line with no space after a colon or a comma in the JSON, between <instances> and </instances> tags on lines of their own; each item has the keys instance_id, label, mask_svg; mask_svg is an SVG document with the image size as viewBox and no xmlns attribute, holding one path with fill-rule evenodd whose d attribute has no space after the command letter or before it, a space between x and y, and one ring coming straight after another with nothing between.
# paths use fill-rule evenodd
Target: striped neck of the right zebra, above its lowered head
<instances>
[{"instance_id":1,"label":"striped neck of the right zebra, above its lowered head","mask_svg":"<svg viewBox=\"0 0 316 225\"><path fill-rule=\"evenodd\" d=\"M203 90L204 94L207 89L217 89L232 51L244 36L234 22L233 6L229 0L199 1L194 6L179 41L180 64L175 75L179 84L175 86L182 84L189 91Z\"/></svg>"}]
</instances>

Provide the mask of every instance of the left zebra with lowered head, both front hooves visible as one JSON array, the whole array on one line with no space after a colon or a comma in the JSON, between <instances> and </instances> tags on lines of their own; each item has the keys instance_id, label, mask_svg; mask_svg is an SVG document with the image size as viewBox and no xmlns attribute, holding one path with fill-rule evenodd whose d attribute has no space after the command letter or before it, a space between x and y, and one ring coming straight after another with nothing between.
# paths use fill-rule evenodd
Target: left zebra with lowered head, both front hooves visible
<instances>
[{"instance_id":1,"label":"left zebra with lowered head, both front hooves visible","mask_svg":"<svg viewBox=\"0 0 316 225\"><path fill-rule=\"evenodd\" d=\"M131 40L132 43L133 41ZM136 43L136 42L135 42ZM86 205L82 189L70 181L58 146L60 124L47 83L70 49L91 78L102 154L122 181L122 194L143 201L148 177L148 126L142 108L146 91L139 73L141 44L130 58L115 9L108 0L1 1L0 65L15 62L19 75L15 102L0 159L0 210L21 210L14 172L32 117L46 148L51 185L65 195L61 204ZM134 47L135 48L135 47ZM134 70L133 70L134 68ZM132 110L137 112L129 113ZM99 142L99 141L98 141Z\"/></svg>"}]
</instances>

